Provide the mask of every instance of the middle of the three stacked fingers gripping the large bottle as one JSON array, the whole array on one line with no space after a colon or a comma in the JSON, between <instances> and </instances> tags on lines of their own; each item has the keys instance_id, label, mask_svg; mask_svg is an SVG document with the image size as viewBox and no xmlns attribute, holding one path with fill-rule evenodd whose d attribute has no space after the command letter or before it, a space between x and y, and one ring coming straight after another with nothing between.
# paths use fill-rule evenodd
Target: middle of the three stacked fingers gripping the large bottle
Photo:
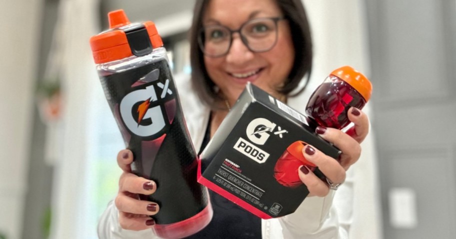
<instances>
[{"instance_id":1,"label":"middle of the three stacked fingers gripping the large bottle","mask_svg":"<svg viewBox=\"0 0 456 239\"><path fill-rule=\"evenodd\" d=\"M158 204L149 201L133 199L123 193L119 193L117 195L114 203L119 212L130 214L142 214L151 216L157 214L159 211Z\"/></svg>"}]
</instances>

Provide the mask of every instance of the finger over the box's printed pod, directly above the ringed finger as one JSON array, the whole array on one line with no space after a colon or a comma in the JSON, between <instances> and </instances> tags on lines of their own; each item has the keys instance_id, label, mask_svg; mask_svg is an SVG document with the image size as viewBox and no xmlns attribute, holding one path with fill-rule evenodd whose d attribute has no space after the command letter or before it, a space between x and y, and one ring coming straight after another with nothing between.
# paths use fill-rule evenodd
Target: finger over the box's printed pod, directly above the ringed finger
<instances>
[{"instance_id":1,"label":"finger over the box's printed pod, directly above the ringed finger","mask_svg":"<svg viewBox=\"0 0 456 239\"><path fill-rule=\"evenodd\" d=\"M302 154L306 160L316 165L321 173L331 182L343 183L345 181L345 170L337 160L323 154L310 145L302 149Z\"/></svg>"}]
</instances>

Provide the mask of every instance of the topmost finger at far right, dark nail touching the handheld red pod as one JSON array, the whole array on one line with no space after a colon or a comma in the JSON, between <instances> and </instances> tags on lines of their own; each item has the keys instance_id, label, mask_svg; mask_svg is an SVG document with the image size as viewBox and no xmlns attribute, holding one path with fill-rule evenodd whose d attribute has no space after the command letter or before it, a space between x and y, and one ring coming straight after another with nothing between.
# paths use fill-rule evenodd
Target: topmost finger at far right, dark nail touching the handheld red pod
<instances>
[{"instance_id":1,"label":"topmost finger at far right, dark nail touching the handheld red pod","mask_svg":"<svg viewBox=\"0 0 456 239\"><path fill-rule=\"evenodd\" d=\"M354 126L350 127L346 131L346 134L351 136L358 143L361 143L367 136L367 133L369 133L369 119L366 114L355 107L351 107L348 112L348 119Z\"/></svg>"}]
</instances>

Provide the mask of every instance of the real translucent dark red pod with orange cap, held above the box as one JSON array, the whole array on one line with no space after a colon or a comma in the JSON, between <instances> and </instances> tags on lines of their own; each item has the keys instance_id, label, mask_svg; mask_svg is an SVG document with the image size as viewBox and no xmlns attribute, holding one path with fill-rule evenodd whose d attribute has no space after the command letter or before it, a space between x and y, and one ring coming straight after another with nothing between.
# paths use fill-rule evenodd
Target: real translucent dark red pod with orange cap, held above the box
<instances>
[{"instance_id":1,"label":"real translucent dark red pod with orange cap, held above the box","mask_svg":"<svg viewBox=\"0 0 456 239\"><path fill-rule=\"evenodd\" d=\"M372 85L359 71L342 66L332 71L310 96L305 108L310 123L342 129L350 121L350 107L361 109L370 99Z\"/></svg>"}]
</instances>

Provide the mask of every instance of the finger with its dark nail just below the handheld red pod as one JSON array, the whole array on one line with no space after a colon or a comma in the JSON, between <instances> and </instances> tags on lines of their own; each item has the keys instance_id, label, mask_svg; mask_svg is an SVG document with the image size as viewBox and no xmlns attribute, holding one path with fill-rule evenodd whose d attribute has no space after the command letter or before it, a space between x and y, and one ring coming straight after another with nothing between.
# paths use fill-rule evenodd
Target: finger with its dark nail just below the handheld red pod
<instances>
[{"instance_id":1,"label":"finger with its dark nail just below the handheld red pod","mask_svg":"<svg viewBox=\"0 0 456 239\"><path fill-rule=\"evenodd\" d=\"M354 138L338 129L324 128L322 126L316 127L315 132L340 149L342 154L339 157L339 163L345 170L348 170L359 159L361 146Z\"/></svg>"}]
</instances>

